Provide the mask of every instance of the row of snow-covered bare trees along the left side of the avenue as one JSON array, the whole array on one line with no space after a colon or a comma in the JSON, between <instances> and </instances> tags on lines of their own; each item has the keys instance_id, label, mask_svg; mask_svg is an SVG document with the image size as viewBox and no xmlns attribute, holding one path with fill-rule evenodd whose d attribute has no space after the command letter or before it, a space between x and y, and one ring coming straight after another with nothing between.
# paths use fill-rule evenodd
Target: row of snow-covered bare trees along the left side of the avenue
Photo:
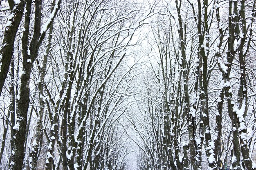
<instances>
[{"instance_id":1,"label":"row of snow-covered bare trees along the left side of the avenue","mask_svg":"<svg viewBox=\"0 0 256 170\"><path fill-rule=\"evenodd\" d=\"M134 148L120 120L137 64L126 61L152 7L126 0L0 3L1 169L127 168Z\"/></svg>"}]
</instances>

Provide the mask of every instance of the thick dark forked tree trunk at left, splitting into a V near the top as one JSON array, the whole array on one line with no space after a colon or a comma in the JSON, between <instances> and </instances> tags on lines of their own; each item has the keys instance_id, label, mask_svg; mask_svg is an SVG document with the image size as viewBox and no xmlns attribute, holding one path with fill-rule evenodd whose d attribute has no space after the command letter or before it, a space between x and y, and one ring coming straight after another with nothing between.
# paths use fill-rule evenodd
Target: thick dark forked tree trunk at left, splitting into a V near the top
<instances>
[{"instance_id":1,"label":"thick dark forked tree trunk at left, splitting into a V near the top","mask_svg":"<svg viewBox=\"0 0 256 170\"><path fill-rule=\"evenodd\" d=\"M30 28L30 18L31 18L31 0L27 0L26 13L25 13L25 24L22 35L22 76L21 76L21 86L20 86L20 96L17 105L17 120L16 124L13 126L13 149L11 152L11 164L10 169L22 169L23 159L24 159L24 144L27 139L25 139L27 131L27 113L29 108L29 82L31 69L33 63L38 56L38 50L45 38L45 34L49 26L52 24L55 15L57 14L58 8L60 6L61 0L58 0L54 6L54 9L49 16L47 22L41 28L42 20L42 1L35 1L35 22L34 22L34 32L31 42L29 44L29 28ZM28 48L29 47L29 48Z\"/></svg>"}]
</instances>

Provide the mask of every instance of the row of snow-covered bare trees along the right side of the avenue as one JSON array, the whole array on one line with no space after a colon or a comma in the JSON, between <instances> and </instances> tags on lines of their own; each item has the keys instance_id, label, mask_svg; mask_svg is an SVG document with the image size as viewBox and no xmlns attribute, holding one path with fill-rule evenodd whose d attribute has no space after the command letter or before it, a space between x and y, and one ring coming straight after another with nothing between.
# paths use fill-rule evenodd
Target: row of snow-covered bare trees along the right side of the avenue
<instances>
[{"instance_id":1,"label":"row of snow-covered bare trees along the right side of the avenue","mask_svg":"<svg viewBox=\"0 0 256 170\"><path fill-rule=\"evenodd\" d=\"M255 170L256 1L163 5L147 38L144 92L129 113L139 169Z\"/></svg>"}]
</instances>

